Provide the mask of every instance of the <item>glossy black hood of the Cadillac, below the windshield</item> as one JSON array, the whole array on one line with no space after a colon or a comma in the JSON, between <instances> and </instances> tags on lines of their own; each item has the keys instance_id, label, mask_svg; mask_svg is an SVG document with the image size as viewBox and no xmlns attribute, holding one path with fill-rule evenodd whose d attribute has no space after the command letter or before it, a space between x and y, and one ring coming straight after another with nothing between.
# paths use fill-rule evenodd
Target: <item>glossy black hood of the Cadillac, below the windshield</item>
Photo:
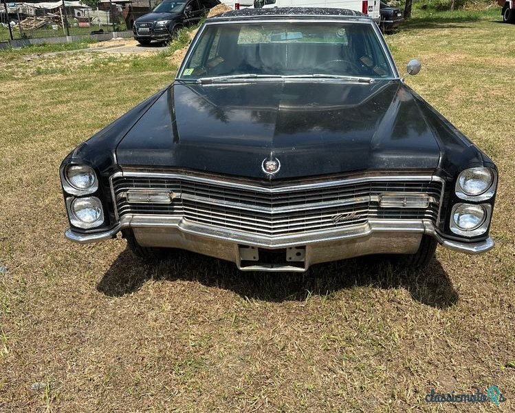
<instances>
[{"instance_id":1,"label":"glossy black hood of the Cadillac, below the windshield","mask_svg":"<svg viewBox=\"0 0 515 413\"><path fill-rule=\"evenodd\" d=\"M274 179L373 169L435 169L440 149L399 81L176 81L124 136L122 167L195 169ZM272 178L270 178L272 179Z\"/></svg>"}]
</instances>

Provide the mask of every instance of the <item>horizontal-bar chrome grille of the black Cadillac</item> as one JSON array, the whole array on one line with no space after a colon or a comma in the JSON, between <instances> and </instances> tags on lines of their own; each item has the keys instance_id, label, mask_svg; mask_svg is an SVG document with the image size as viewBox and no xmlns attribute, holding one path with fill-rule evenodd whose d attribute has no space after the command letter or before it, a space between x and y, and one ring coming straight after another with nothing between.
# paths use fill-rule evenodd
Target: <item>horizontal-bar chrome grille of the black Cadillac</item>
<instances>
[{"instance_id":1,"label":"horizontal-bar chrome grille of the black Cadillac","mask_svg":"<svg viewBox=\"0 0 515 413\"><path fill-rule=\"evenodd\" d=\"M113 178L112 185L120 217L129 213L170 215L267 236L336 229L369 219L425 219L436 224L442 191L441 182L430 178L424 181L349 180L272 191L185 176L118 176ZM130 189L166 189L179 195L171 204L136 204L124 198L124 193ZM390 192L425 193L435 202L426 209L380 207L378 195ZM344 215L344 219L335 222L338 214Z\"/></svg>"}]
</instances>

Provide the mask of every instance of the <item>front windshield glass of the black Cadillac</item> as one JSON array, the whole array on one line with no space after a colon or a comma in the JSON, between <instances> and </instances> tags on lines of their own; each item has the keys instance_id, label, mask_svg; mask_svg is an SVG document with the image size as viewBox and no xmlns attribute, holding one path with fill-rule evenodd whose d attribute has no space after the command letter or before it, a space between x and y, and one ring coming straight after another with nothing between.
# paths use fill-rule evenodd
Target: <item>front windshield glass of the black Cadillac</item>
<instances>
[{"instance_id":1,"label":"front windshield glass of the black Cadillac","mask_svg":"<svg viewBox=\"0 0 515 413\"><path fill-rule=\"evenodd\" d=\"M271 21L207 25L179 77L245 75L374 79L393 72L369 23Z\"/></svg>"}]
</instances>

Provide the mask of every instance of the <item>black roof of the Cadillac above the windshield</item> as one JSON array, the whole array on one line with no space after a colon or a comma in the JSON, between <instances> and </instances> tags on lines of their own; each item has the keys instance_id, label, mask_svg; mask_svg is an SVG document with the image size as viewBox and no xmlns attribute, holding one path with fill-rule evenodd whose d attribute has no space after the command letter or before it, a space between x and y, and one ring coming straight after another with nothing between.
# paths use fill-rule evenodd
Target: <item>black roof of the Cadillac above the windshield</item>
<instances>
[{"instance_id":1,"label":"black roof of the Cadillac above the windshield","mask_svg":"<svg viewBox=\"0 0 515 413\"><path fill-rule=\"evenodd\" d=\"M355 10L339 9L339 8L309 8L309 7L275 7L275 8L244 8L241 10L231 10L218 14L215 17L210 17L207 22L238 20L246 21L256 18L272 18L272 19L285 19L287 17L309 17L316 19L323 19L330 17L351 19L351 20L371 20L366 14L356 12Z\"/></svg>"}]
</instances>

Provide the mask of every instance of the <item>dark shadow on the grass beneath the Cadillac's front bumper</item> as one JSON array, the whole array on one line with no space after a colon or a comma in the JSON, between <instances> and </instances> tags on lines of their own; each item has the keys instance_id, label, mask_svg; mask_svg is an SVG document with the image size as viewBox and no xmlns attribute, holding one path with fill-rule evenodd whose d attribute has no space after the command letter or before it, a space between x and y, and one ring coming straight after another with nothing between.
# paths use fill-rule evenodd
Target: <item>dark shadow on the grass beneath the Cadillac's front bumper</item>
<instances>
[{"instance_id":1,"label":"dark shadow on the grass beneath the Cadillac's front bumper","mask_svg":"<svg viewBox=\"0 0 515 413\"><path fill-rule=\"evenodd\" d=\"M458 301L448 274L438 260L420 271L399 269L388 260L369 256L311 266L306 273L242 272L230 262L177 251L173 258L144 262L131 251L120 253L97 290L111 297L135 293L150 279L182 279L234 291L241 297L265 301L303 301L313 295L332 295L355 287L406 288L413 299L435 308Z\"/></svg>"}]
</instances>

